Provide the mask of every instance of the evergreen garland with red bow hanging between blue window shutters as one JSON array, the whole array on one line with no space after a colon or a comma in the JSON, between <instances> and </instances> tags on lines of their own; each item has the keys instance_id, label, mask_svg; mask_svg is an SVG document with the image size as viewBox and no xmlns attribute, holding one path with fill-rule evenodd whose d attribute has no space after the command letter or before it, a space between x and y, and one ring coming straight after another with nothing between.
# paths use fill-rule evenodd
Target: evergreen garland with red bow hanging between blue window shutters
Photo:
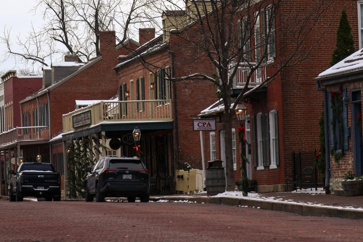
<instances>
[{"instance_id":1,"label":"evergreen garland with red bow hanging between blue window shutters","mask_svg":"<svg viewBox=\"0 0 363 242\"><path fill-rule=\"evenodd\" d=\"M342 99L342 87L339 87L339 92L330 91L331 97L331 109L333 109L333 119L331 121L331 126L333 127L333 149L330 151L330 155L334 157L335 162L339 162L344 156L344 129L343 129L343 99ZM339 122L340 120L340 122ZM340 133L340 150L337 152L337 130L335 127L338 122L338 132Z\"/></svg>"}]
</instances>

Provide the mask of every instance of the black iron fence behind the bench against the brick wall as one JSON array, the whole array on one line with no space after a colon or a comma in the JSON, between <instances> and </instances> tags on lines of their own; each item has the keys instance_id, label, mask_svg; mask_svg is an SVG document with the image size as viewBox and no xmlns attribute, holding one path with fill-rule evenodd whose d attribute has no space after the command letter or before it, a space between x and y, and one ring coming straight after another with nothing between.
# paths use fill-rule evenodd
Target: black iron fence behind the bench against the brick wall
<instances>
[{"instance_id":1,"label":"black iron fence behind the bench against the brick wall","mask_svg":"<svg viewBox=\"0 0 363 242\"><path fill-rule=\"evenodd\" d=\"M293 152L293 177L296 181L296 177L301 177L304 168L313 167L313 187L317 189L318 187L325 186L324 173L318 170L315 166L315 154L316 151L299 151L298 153ZM303 183L302 188L310 188L308 183Z\"/></svg>"}]
</instances>

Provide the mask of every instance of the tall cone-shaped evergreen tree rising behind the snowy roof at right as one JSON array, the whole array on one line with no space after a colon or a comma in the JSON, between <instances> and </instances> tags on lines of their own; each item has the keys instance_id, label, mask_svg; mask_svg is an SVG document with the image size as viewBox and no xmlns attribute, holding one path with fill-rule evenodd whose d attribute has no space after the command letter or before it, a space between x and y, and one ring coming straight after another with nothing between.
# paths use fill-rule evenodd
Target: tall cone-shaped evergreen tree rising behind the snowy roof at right
<instances>
[{"instance_id":1,"label":"tall cone-shaped evergreen tree rising behind the snowy roof at right","mask_svg":"<svg viewBox=\"0 0 363 242\"><path fill-rule=\"evenodd\" d=\"M337 48L334 50L330 66L338 63L348 55L354 53L354 41L351 33L351 28L348 21L348 16L345 9L342 10L342 16L339 20L339 27L337 30Z\"/></svg>"}]
</instances>

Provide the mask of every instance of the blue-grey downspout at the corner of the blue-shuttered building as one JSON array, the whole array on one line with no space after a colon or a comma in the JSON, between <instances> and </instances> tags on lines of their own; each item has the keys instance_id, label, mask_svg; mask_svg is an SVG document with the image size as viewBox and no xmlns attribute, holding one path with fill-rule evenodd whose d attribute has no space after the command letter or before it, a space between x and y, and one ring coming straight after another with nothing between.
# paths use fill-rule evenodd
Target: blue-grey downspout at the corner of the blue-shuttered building
<instances>
[{"instance_id":1,"label":"blue-grey downspout at the corner of the blue-shuttered building","mask_svg":"<svg viewBox=\"0 0 363 242\"><path fill-rule=\"evenodd\" d=\"M330 193L330 152L329 152L329 118L328 118L328 94L325 88L320 86L319 80L315 80L317 89L324 95L324 135L325 135L325 192Z\"/></svg>"}]
</instances>

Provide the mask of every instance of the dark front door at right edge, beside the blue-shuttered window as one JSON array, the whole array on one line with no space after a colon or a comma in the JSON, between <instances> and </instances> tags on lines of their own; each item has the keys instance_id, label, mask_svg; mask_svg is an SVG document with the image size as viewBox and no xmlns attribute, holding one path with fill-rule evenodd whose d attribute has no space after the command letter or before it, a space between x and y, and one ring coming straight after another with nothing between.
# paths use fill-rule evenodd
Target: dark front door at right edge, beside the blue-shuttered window
<instances>
[{"instance_id":1,"label":"dark front door at right edge, beside the blue-shuttered window","mask_svg":"<svg viewBox=\"0 0 363 242\"><path fill-rule=\"evenodd\" d=\"M352 133L354 173L363 175L362 103L360 90L352 92Z\"/></svg>"}]
</instances>

